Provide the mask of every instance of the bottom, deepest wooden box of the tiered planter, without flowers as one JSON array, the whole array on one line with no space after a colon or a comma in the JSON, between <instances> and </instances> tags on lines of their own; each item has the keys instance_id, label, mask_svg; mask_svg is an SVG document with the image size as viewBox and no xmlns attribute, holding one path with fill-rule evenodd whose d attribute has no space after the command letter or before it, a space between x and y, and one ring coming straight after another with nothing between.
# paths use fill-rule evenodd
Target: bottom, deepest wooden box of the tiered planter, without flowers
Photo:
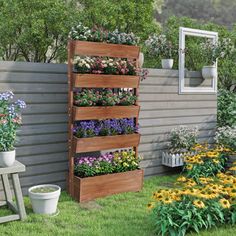
<instances>
[{"instance_id":1,"label":"bottom, deepest wooden box of the tiered planter, without flowers","mask_svg":"<svg viewBox=\"0 0 236 236\"><path fill-rule=\"evenodd\" d=\"M88 178L74 176L74 198L79 202L123 192L137 192L143 186L143 170Z\"/></svg>"}]
</instances>

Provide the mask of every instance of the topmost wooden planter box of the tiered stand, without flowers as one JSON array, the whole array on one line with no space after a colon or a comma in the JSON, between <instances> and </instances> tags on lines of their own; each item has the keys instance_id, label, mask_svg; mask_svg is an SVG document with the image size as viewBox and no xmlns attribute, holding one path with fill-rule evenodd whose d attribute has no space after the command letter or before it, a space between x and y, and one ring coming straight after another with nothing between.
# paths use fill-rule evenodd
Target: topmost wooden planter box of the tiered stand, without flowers
<instances>
[{"instance_id":1,"label":"topmost wooden planter box of the tiered stand, without flowers","mask_svg":"<svg viewBox=\"0 0 236 236\"><path fill-rule=\"evenodd\" d=\"M86 41L71 41L75 55L137 59L139 47Z\"/></svg>"}]
</instances>

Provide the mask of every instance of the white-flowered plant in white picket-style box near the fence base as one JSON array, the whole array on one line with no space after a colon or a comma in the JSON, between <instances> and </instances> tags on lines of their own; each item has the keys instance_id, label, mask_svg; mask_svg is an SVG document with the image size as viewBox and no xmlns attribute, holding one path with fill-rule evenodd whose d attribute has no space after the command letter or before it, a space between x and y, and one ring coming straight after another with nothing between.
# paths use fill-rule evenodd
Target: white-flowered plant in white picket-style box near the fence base
<instances>
[{"instance_id":1,"label":"white-flowered plant in white picket-style box near the fence base","mask_svg":"<svg viewBox=\"0 0 236 236\"><path fill-rule=\"evenodd\" d=\"M183 155L191 153L197 144L198 128L180 126L170 132L169 152L162 153L162 164L169 167L183 166Z\"/></svg>"}]
</instances>

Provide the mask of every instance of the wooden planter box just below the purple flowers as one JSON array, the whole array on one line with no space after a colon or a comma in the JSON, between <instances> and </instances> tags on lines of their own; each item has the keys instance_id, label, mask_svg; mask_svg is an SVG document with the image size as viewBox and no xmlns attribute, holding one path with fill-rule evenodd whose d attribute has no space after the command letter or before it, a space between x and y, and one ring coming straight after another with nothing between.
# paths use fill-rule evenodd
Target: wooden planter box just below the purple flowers
<instances>
[{"instance_id":1,"label":"wooden planter box just below the purple flowers","mask_svg":"<svg viewBox=\"0 0 236 236\"><path fill-rule=\"evenodd\" d=\"M140 142L140 134L125 134L114 136L99 136L92 138L73 137L74 153L94 152L99 150L137 147Z\"/></svg>"}]
</instances>

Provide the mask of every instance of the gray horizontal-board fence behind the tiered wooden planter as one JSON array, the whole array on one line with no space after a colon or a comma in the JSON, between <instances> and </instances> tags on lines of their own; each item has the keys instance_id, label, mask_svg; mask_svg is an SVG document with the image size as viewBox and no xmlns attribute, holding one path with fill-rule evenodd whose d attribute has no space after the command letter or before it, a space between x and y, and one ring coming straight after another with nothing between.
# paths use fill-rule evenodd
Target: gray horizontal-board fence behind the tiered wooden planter
<instances>
[{"instance_id":1,"label":"gray horizontal-board fence behind the tiered wooden planter","mask_svg":"<svg viewBox=\"0 0 236 236\"><path fill-rule=\"evenodd\" d=\"M67 172L66 65L0 62L0 91L12 90L28 104L23 114L17 160L27 166L23 190L40 183L65 187ZM205 86L198 73L187 83ZM201 140L211 140L216 126L216 95L178 95L178 71L150 69L140 88L140 153L145 175L169 168L161 165L168 132L179 125L198 125Z\"/></svg>"}]
</instances>

